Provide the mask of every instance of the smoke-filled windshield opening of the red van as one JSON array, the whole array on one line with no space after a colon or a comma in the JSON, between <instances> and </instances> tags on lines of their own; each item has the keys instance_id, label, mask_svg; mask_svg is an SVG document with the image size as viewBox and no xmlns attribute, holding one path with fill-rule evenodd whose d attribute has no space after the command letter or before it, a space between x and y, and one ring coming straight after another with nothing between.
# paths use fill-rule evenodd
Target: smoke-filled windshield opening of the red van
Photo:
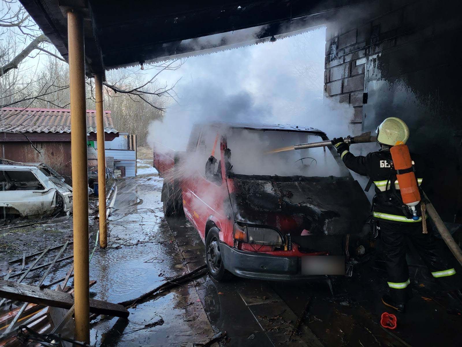
<instances>
[{"instance_id":1,"label":"smoke-filled windshield opening of the red van","mask_svg":"<svg viewBox=\"0 0 462 347\"><path fill-rule=\"evenodd\" d=\"M231 174L270 176L346 176L347 170L326 147L268 153L298 143L323 141L316 133L281 130L231 129ZM336 153L335 153L336 155Z\"/></svg>"}]
</instances>

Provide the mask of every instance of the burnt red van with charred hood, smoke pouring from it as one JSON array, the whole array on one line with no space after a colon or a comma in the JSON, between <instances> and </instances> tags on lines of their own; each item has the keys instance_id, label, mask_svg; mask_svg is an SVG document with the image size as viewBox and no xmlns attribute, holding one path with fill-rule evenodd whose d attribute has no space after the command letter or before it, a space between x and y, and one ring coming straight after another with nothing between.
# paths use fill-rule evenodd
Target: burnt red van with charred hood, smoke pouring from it
<instances>
[{"instance_id":1,"label":"burnt red van with charred hood, smoke pouring from it","mask_svg":"<svg viewBox=\"0 0 462 347\"><path fill-rule=\"evenodd\" d=\"M270 153L327 139L298 126L199 124L185 152L155 143L164 214L195 226L214 279L343 274L345 259L364 256L370 204L336 151Z\"/></svg>"}]
</instances>

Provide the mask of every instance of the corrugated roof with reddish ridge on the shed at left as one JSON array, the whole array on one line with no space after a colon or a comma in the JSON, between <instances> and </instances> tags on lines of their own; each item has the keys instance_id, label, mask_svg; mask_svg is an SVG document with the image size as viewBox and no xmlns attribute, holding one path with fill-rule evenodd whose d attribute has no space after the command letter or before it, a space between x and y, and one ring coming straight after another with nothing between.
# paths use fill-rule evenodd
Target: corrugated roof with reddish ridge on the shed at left
<instances>
[{"instance_id":1,"label":"corrugated roof with reddish ridge on the shed at left","mask_svg":"<svg viewBox=\"0 0 462 347\"><path fill-rule=\"evenodd\" d=\"M96 111L87 110L86 115L87 132L96 133ZM3 107L0 109L0 132L70 133L71 110ZM118 132L110 111L104 111L104 132Z\"/></svg>"}]
</instances>

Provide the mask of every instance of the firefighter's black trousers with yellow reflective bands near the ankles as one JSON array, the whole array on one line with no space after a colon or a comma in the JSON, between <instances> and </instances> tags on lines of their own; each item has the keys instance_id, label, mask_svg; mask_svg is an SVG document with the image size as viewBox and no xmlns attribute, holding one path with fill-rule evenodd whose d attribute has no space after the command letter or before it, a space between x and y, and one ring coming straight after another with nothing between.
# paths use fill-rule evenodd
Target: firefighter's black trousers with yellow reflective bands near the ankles
<instances>
[{"instance_id":1,"label":"firefighter's black trousers with yellow reflective bands near the ankles","mask_svg":"<svg viewBox=\"0 0 462 347\"><path fill-rule=\"evenodd\" d=\"M409 269L406 262L407 239L413 243L441 290L460 288L461 279L456 274L454 266L450 265L446 253L437 247L428 220L428 234L422 234L422 223L390 223L379 220L378 225L392 299L398 303L405 303L410 294Z\"/></svg>"}]
</instances>

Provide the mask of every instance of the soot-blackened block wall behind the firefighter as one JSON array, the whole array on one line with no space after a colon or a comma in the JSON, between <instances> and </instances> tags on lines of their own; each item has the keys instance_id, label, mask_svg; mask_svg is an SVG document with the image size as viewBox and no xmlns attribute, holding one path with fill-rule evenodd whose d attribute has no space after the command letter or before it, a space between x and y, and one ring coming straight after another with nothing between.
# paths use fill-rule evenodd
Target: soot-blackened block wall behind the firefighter
<instances>
[{"instance_id":1,"label":"soot-blackened block wall behind the firefighter","mask_svg":"<svg viewBox=\"0 0 462 347\"><path fill-rule=\"evenodd\" d=\"M354 132L395 116L426 164L424 188L443 219L462 223L462 5L374 1L339 13L326 34L325 94L354 107Z\"/></svg>"}]
</instances>

